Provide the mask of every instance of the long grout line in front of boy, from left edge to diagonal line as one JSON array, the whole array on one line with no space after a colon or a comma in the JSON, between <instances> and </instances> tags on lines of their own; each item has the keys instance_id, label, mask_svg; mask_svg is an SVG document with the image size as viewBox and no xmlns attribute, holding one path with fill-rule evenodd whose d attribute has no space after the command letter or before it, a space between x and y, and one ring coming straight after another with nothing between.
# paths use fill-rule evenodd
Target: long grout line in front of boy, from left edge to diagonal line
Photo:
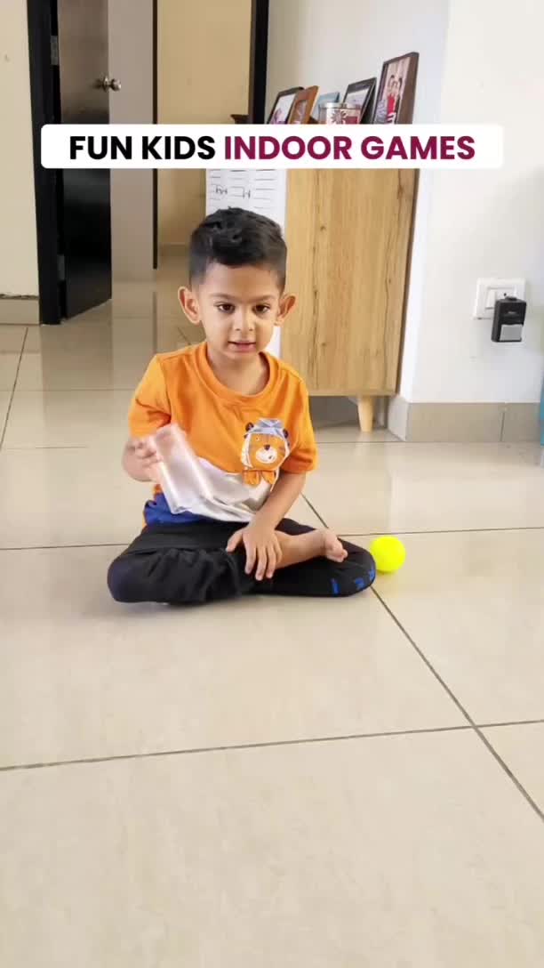
<instances>
[{"instance_id":1,"label":"long grout line in front of boy, from left edge to diagonal line","mask_svg":"<svg viewBox=\"0 0 544 968\"><path fill-rule=\"evenodd\" d=\"M349 742L354 740L379 740L402 736L428 736L435 733L468 732L470 726L429 726L411 730L388 730L379 733L349 733L346 736L319 736L298 740L270 740L264 742L238 742L222 746L195 746L188 749L163 749L150 753L119 753L113 756L82 757L76 760L51 760L45 763L22 763L9 767L0 766L0 774L26 770L50 770L54 767L91 766L98 763L118 763L128 760L157 760L172 756L198 756L203 753L228 753L252 749L275 749L283 746L309 746L322 742Z\"/></svg>"}]
</instances>

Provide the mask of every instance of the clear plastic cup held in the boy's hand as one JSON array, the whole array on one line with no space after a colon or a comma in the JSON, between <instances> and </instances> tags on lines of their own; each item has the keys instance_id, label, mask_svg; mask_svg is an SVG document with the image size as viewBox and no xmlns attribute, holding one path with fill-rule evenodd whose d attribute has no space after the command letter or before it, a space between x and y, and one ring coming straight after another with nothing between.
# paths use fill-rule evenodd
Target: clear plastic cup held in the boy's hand
<instances>
[{"instance_id":1,"label":"clear plastic cup held in the boy's hand","mask_svg":"<svg viewBox=\"0 0 544 968\"><path fill-rule=\"evenodd\" d=\"M181 427L167 424L154 441L161 459L159 483L172 514L190 511L198 499L213 499L205 471Z\"/></svg>"}]
</instances>

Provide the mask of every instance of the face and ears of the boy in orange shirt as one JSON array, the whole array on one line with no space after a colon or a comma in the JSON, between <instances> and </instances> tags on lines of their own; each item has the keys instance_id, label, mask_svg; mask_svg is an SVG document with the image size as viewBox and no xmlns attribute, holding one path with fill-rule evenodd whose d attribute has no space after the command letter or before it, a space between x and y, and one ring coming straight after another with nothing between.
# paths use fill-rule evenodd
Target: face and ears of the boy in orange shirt
<instances>
[{"instance_id":1,"label":"face and ears of the boy in orange shirt","mask_svg":"<svg viewBox=\"0 0 544 968\"><path fill-rule=\"evenodd\" d=\"M265 266L231 268L214 262L193 289L181 288L185 315L201 323L208 346L230 360L246 360L266 349L274 325L281 325L294 305L284 295L277 274Z\"/></svg>"}]
</instances>

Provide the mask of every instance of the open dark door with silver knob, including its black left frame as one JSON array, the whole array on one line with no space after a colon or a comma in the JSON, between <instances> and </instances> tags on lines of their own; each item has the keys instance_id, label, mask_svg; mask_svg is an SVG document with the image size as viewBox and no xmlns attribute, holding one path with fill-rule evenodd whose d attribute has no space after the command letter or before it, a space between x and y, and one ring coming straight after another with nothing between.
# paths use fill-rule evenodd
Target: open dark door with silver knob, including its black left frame
<instances>
[{"instance_id":1,"label":"open dark door with silver knob, including its black left frame","mask_svg":"<svg viewBox=\"0 0 544 968\"><path fill-rule=\"evenodd\" d=\"M46 171L44 124L108 124L107 0L27 0L40 317L58 323L111 296L109 171Z\"/></svg>"}]
</instances>

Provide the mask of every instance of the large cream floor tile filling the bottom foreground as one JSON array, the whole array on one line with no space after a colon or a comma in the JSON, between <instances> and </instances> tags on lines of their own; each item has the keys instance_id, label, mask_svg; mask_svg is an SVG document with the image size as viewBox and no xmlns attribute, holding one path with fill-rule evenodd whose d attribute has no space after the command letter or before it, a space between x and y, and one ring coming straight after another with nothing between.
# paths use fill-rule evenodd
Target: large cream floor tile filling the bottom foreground
<instances>
[{"instance_id":1,"label":"large cream floor tile filling the bottom foreground","mask_svg":"<svg viewBox=\"0 0 544 968\"><path fill-rule=\"evenodd\" d=\"M471 733L0 774L3 965L538 968L542 824Z\"/></svg>"}]
</instances>

